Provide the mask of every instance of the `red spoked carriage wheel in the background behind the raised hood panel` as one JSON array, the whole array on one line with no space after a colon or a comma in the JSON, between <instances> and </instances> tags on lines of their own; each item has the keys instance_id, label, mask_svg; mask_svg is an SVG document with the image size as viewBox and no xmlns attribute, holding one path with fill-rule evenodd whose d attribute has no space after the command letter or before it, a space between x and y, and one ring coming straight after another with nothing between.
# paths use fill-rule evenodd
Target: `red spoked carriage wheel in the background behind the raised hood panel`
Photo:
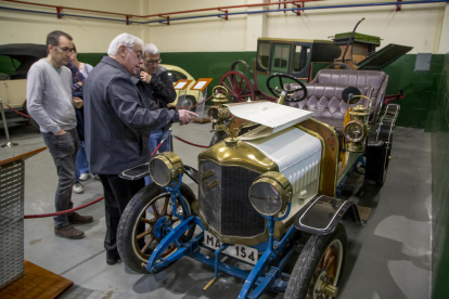
<instances>
[{"instance_id":1,"label":"red spoked carriage wheel in the background behind the raised hood panel","mask_svg":"<svg viewBox=\"0 0 449 299\"><path fill-rule=\"evenodd\" d=\"M249 79L240 70L229 70L219 82L226 87L230 95L230 103L246 102L248 99L255 101L254 88Z\"/></svg>"}]
</instances>

